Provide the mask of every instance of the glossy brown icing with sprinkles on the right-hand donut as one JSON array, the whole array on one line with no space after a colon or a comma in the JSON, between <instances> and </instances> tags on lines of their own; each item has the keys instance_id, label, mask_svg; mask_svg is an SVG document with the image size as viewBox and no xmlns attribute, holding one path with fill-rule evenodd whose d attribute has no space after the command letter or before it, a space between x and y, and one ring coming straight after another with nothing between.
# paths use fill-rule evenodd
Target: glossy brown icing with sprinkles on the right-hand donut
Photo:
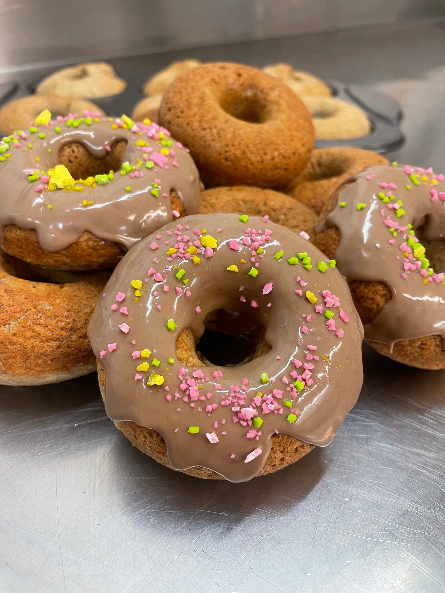
<instances>
[{"instance_id":1,"label":"glossy brown icing with sprinkles on the right-hand donut","mask_svg":"<svg viewBox=\"0 0 445 593\"><path fill-rule=\"evenodd\" d=\"M365 339L393 345L438 334L445 347L445 279L421 243L445 237L444 176L380 165L352 179L318 230L339 229L335 258L348 282L383 282L391 292Z\"/></svg>"}]
</instances>

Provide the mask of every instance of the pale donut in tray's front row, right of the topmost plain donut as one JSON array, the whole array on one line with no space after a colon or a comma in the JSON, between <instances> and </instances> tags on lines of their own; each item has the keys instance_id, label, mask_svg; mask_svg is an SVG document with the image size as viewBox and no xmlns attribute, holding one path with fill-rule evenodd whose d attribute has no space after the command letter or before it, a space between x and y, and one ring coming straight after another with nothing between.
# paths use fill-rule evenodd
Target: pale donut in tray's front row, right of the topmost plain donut
<instances>
[{"instance_id":1,"label":"pale donut in tray's front row, right of the topmost plain donut","mask_svg":"<svg viewBox=\"0 0 445 593\"><path fill-rule=\"evenodd\" d=\"M332 97L301 97L301 100L309 109L317 139L359 138L371 131L364 112L352 103Z\"/></svg>"}]
</instances>

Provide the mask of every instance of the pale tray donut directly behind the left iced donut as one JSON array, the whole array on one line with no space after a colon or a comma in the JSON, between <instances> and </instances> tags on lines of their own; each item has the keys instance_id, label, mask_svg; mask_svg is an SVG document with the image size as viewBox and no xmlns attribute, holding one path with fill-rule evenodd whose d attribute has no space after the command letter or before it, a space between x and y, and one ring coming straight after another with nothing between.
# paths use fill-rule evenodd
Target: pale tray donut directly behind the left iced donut
<instances>
[{"instance_id":1,"label":"pale tray donut directly behind the left iced donut","mask_svg":"<svg viewBox=\"0 0 445 593\"><path fill-rule=\"evenodd\" d=\"M104 112L91 101L55 95L30 95L11 101L0 109L0 132L8 135L15 130L26 130L44 109L60 116L77 117L78 113L91 111L104 116Z\"/></svg>"}]
</instances>

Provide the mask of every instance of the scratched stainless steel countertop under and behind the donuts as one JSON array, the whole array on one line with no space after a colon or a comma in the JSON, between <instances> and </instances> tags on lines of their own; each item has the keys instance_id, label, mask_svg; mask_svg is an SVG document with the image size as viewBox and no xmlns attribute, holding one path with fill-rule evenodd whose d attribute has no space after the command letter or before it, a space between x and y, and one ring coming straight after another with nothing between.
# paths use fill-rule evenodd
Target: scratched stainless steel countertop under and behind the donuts
<instances>
[{"instance_id":1,"label":"scratched stainless steel countertop under and behind the donuts","mask_svg":"<svg viewBox=\"0 0 445 593\"><path fill-rule=\"evenodd\" d=\"M288 60L372 83L405 112L407 144L391 157L445 172L438 25L182 55ZM179 56L112 62L143 82ZM399 365L367 346L363 354L363 391L333 443L246 484L174 473L131 447L105 416L94 375L1 387L0 591L443 592L445 371Z\"/></svg>"}]
</instances>

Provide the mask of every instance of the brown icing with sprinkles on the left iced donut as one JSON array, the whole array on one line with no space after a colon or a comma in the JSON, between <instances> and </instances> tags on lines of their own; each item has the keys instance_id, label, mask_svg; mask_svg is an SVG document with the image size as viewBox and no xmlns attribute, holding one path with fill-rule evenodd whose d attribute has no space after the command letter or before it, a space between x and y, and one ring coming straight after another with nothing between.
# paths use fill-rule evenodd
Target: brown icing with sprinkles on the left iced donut
<instances>
[{"instance_id":1,"label":"brown icing with sprinkles on the left iced donut","mask_svg":"<svg viewBox=\"0 0 445 593\"><path fill-rule=\"evenodd\" d=\"M114 176L74 183L66 170L55 168L62 146L79 143L100 159L121 140L127 143L125 167ZM187 213L198 212L198 170L186 149L156 124L94 114L59 117L2 139L0 161L0 243L3 228L15 224L35 229L47 251L68 247L84 231L128 249L174 219L170 190Z\"/></svg>"}]
</instances>

